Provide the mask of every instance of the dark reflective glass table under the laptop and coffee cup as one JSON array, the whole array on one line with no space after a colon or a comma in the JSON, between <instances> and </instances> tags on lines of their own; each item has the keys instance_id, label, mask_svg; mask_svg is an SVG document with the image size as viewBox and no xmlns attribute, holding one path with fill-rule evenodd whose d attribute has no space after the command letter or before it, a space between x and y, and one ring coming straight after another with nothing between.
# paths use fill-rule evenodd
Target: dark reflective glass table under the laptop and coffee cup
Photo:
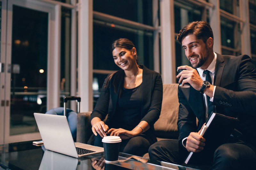
<instances>
[{"instance_id":1,"label":"dark reflective glass table under the laptop and coffee cup","mask_svg":"<svg viewBox=\"0 0 256 170\"><path fill-rule=\"evenodd\" d=\"M32 141L0 144L0 169L16 170L195 170L195 168L175 165L166 162L153 161L139 156L119 153L118 161L105 163L104 154L94 154L82 158L73 158L56 152L45 150L42 146L32 144Z\"/></svg>"}]
</instances>

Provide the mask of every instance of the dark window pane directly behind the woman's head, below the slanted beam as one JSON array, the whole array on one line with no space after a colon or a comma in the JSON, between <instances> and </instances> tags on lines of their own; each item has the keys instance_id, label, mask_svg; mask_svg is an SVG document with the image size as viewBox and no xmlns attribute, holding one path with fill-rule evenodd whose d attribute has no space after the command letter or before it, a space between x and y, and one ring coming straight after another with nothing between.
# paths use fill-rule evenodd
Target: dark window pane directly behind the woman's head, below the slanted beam
<instances>
[{"instance_id":1,"label":"dark window pane directly behind the woman's head, below the slanted beam","mask_svg":"<svg viewBox=\"0 0 256 170\"><path fill-rule=\"evenodd\" d=\"M119 70L113 60L111 44L119 38L131 40L138 52L140 64L153 69L153 33L135 29L122 29L111 24L93 25L93 69Z\"/></svg>"}]
</instances>

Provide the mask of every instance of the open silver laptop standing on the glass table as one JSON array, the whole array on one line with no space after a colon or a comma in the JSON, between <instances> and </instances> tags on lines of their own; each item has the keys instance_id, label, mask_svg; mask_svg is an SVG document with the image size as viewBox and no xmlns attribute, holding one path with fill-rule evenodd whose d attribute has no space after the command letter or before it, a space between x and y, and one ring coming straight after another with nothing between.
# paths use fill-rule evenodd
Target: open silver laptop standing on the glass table
<instances>
[{"instance_id":1,"label":"open silver laptop standing on the glass table","mask_svg":"<svg viewBox=\"0 0 256 170\"><path fill-rule=\"evenodd\" d=\"M66 116L42 113L34 113L34 116L45 149L75 158L104 152L102 147L74 143Z\"/></svg>"}]
</instances>

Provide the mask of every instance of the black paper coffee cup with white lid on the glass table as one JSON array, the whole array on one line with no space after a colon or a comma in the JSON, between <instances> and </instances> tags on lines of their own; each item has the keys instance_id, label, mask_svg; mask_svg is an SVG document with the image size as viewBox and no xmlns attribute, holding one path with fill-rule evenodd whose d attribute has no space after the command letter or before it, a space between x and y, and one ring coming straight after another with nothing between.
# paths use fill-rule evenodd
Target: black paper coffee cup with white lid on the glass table
<instances>
[{"instance_id":1,"label":"black paper coffee cup with white lid on the glass table","mask_svg":"<svg viewBox=\"0 0 256 170\"><path fill-rule=\"evenodd\" d=\"M104 156L106 163L113 163L118 160L121 138L118 136L103 137Z\"/></svg>"}]
</instances>

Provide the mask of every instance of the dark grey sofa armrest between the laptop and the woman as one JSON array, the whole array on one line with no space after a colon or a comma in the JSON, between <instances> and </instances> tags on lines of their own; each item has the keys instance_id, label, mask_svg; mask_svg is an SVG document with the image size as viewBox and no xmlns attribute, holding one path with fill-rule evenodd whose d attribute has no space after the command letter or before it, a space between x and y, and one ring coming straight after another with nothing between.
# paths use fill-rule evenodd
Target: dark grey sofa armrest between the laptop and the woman
<instances>
[{"instance_id":1,"label":"dark grey sofa armrest between the laptop and the woman","mask_svg":"<svg viewBox=\"0 0 256 170\"><path fill-rule=\"evenodd\" d=\"M76 142L87 144L92 136L91 113L81 112L77 114Z\"/></svg>"}]
</instances>

